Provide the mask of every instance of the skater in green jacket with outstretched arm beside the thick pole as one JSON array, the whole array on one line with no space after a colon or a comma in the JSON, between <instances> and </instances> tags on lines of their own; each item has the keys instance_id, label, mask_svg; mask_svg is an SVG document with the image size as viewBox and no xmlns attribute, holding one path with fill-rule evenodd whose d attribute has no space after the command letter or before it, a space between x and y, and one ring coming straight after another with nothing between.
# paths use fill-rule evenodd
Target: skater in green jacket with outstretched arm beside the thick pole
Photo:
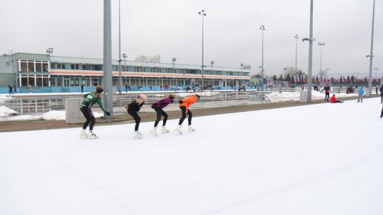
<instances>
[{"instance_id":1,"label":"skater in green jacket with outstretched arm beside the thick pole","mask_svg":"<svg viewBox=\"0 0 383 215\"><path fill-rule=\"evenodd\" d=\"M80 105L80 110L82 114L84 115L85 119L87 121L82 126L80 137L81 138L89 138L89 139L95 139L99 136L97 134L94 134L94 124L96 122L96 119L94 118L93 112L91 111L91 106L93 106L95 103L99 105L99 108L106 114L111 115L110 112L106 111L105 108L102 106L101 101L101 95L103 94L104 89L101 86L96 86L96 92L92 91L91 93L84 94L84 100L82 101ZM89 125L89 132L87 133L87 127Z\"/></svg>"}]
</instances>

